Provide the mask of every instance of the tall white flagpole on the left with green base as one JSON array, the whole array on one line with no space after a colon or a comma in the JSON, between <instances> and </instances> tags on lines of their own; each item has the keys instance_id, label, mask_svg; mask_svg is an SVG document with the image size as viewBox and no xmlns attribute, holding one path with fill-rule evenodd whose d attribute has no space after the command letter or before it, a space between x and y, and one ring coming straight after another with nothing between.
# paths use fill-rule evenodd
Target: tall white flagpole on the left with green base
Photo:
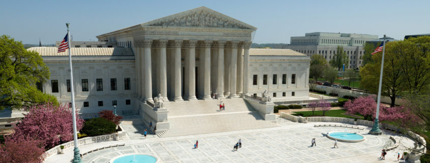
<instances>
[{"instance_id":1,"label":"tall white flagpole on the left with green base","mask_svg":"<svg viewBox=\"0 0 430 163\"><path fill-rule=\"evenodd\" d=\"M70 66L70 93L71 93L71 98L72 98L72 117L73 117L73 141L74 141L74 146L75 148L73 149L73 163L80 163L82 162L82 160L80 159L80 153L79 153L79 148L78 148L78 136L77 136L77 132L76 132L76 110L75 110L75 93L73 90L73 68L72 68L72 55L70 54L70 52L72 51L72 47L70 46L70 34L69 34L69 24L70 23L66 23L67 26L67 40L68 40L68 45L69 46L69 66Z\"/></svg>"}]
</instances>

